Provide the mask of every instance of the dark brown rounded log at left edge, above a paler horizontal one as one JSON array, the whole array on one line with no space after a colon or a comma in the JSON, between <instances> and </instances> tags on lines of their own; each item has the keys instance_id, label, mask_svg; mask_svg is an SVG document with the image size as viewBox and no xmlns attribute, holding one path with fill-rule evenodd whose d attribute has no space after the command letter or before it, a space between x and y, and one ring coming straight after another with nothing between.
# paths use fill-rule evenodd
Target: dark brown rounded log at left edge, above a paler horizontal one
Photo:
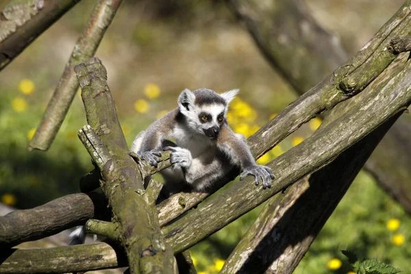
<instances>
[{"instance_id":1,"label":"dark brown rounded log at left edge, above a paler horizontal one","mask_svg":"<svg viewBox=\"0 0 411 274\"><path fill-rule=\"evenodd\" d=\"M82 225L90 218L102 218L106 205L103 195L92 192L66 195L29 210L15 210L0 217L0 246L13 247Z\"/></svg>"}]
</instances>

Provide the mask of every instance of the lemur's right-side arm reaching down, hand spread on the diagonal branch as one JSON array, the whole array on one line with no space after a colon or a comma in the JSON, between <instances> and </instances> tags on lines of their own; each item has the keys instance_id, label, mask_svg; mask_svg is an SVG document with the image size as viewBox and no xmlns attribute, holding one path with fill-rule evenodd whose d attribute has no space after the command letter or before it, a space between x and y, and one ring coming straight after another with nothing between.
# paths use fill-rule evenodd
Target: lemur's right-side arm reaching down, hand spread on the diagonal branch
<instances>
[{"instance_id":1,"label":"lemur's right-side arm reaching down, hand spread on the diagonal branch","mask_svg":"<svg viewBox=\"0 0 411 274\"><path fill-rule=\"evenodd\" d=\"M218 142L221 148L227 151L227 154L232 155L234 161L238 160L240 162L242 168L240 180L247 175L253 175L256 177L256 185L262 181L263 188L271 187L271 179L274 179L273 171L268 166L256 163L244 136L235 134L225 124L220 130Z\"/></svg>"}]
</instances>

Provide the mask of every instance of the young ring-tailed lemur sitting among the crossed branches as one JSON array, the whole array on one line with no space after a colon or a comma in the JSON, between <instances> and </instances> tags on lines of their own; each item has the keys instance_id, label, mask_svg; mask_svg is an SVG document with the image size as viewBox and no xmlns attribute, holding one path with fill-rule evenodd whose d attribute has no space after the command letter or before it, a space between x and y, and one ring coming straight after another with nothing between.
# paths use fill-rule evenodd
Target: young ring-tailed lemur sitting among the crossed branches
<instances>
[{"instance_id":1,"label":"young ring-tailed lemur sitting among the crossed branches","mask_svg":"<svg viewBox=\"0 0 411 274\"><path fill-rule=\"evenodd\" d=\"M166 197L187 186L207 191L233 171L238 175L240 169L240 180L253 175L256 185L262 182L264 189L271 187L271 169L256 164L245 137L232 132L227 123L228 105L237 93L185 89L175 110L136 136L131 150L151 166L158 166L162 151L171 151L172 166L161 171Z\"/></svg>"}]
</instances>

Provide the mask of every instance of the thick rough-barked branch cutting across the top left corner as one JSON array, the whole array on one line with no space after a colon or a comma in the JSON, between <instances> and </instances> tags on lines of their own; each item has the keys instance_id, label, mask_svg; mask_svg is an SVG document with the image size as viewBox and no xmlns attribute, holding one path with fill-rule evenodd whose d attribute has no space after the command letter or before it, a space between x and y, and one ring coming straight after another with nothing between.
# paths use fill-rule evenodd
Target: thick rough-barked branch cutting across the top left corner
<instances>
[{"instance_id":1,"label":"thick rough-barked branch cutting across the top left corner","mask_svg":"<svg viewBox=\"0 0 411 274\"><path fill-rule=\"evenodd\" d=\"M0 71L78 2L10 1L0 13Z\"/></svg>"}]
</instances>

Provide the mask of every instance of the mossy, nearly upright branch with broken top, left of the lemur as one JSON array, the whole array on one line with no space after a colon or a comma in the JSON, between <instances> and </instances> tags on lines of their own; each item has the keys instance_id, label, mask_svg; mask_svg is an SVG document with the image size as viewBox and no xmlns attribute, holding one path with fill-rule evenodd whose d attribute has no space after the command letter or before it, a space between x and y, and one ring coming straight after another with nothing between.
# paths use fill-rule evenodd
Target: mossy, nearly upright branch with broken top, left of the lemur
<instances>
[{"instance_id":1,"label":"mossy, nearly upright branch with broken top, left of the lemur","mask_svg":"<svg viewBox=\"0 0 411 274\"><path fill-rule=\"evenodd\" d=\"M164 244L155 207L147 202L142 176L138 173L136 162L128 155L127 143L106 82L107 71L98 58L91 58L75 66L75 72L82 87L88 124L105 147L104 150L94 147L96 150L89 151L97 166L102 167L104 181L101 181L101 190L112 206L112 221L119 224L119 239L127 253L130 273L171 273L173 252ZM89 136L86 132L85 135ZM85 145L90 148L90 144L98 141L94 137L86 138ZM103 151L104 154L109 151L110 155L100 155L94 151Z\"/></svg>"}]
</instances>

